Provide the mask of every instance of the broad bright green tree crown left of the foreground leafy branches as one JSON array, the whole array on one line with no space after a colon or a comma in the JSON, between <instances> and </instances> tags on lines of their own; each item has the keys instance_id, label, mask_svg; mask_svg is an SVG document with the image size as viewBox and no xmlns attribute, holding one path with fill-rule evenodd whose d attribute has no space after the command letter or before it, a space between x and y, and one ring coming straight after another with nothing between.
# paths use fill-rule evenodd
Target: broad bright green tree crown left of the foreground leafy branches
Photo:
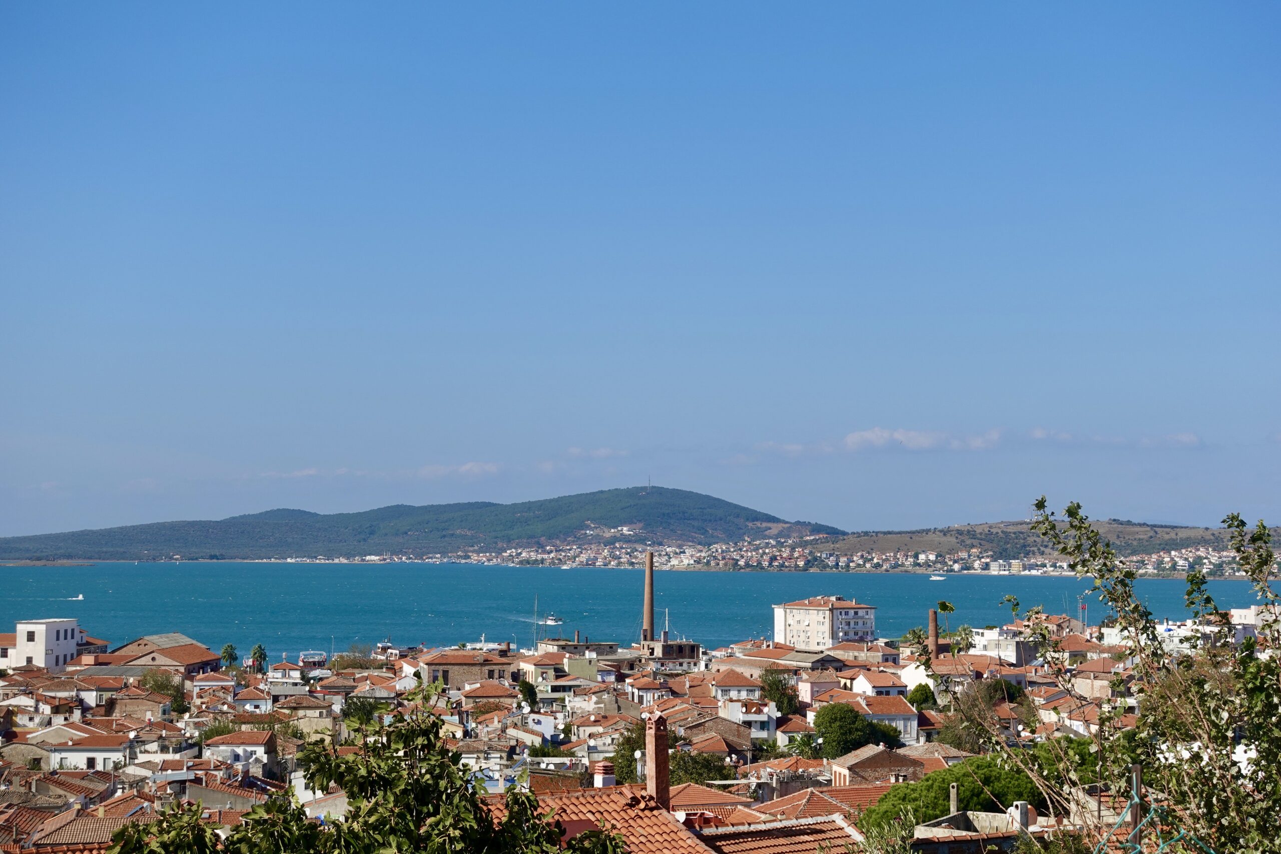
<instances>
[{"instance_id":1,"label":"broad bright green tree crown left of the foreground leafy branches","mask_svg":"<svg viewBox=\"0 0 1281 854\"><path fill-rule=\"evenodd\" d=\"M1002 767L990 757L974 757L949 768L933 771L917 782L903 782L881 795L860 818L860 827L893 822L911 810L917 822L948 814L949 786L957 784L962 810L1003 812L1016 800L1043 807L1045 798L1026 773Z\"/></svg>"}]
</instances>

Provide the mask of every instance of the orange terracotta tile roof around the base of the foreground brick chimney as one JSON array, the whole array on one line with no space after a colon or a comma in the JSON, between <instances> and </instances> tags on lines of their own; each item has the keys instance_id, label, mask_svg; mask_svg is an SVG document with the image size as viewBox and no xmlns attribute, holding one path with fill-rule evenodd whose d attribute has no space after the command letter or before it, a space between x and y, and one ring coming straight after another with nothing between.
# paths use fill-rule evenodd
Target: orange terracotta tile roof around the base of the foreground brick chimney
<instances>
[{"instance_id":1,"label":"orange terracotta tile roof around the base of the foreground brick chimney","mask_svg":"<svg viewBox=\"0 0 1281 854\"><path fill-rule=\"evenodd\" d=\"M501 798L491 798L488 803L497 818L505 816L506 808ZM707 848L698 837L652 798L623 787L550 795L541 799L539 805L552 809L562 823L591 822L620 834L628 854L707 854Z\"/></svg>"}]
</instances>

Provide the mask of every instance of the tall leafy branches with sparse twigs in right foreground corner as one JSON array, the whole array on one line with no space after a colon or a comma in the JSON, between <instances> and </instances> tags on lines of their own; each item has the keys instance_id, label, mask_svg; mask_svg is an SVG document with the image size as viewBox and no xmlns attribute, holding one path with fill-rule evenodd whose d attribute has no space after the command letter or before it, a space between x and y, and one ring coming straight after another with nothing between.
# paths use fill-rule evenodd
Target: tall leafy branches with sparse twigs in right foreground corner
<instances>
[{"instance_id":1,"label":"tall leafy branches with sparse twigs in right foreground corner","mask_svg":"<svg viewBox=\"0 0 1281 854\"><path fill-rule=\"evenodd\" d=\"M1163 638L1135 590L1138 572L1129 566L1071 503L1058 517L1036 502L1032 530L1067 558L1077 577L1090 579L1090 593L1114 615L1123 652L1117 656L1127 677L1116 676L1111 698L1095 703L1072 680L1068 657L1040 618L1040 608L1020 613L1006 597L1026 635L1040 649L1050 676L1081 709L1097 712L1093 757L1081 740L1050 739L1027 750L1011 744L990 721L968 721L977 737L1024 771L1040 789L1052 814L1070 814L1085 825L1085 840L1097 844L1112 832L1114 816L1089 808L1085 785L1100 781L1107 791L1129 794L1131 763L1143 767L1144 786L1161 819L1148 828L1170 841L1177 832L1195 836L1217 854L1263 854L1277 850L1281 831L1281 649L1278 598L1272 590L1276 554L1271 533L1253 529L1239 515L1223 520L1232 551L1261 603L1255 636L1234 643L1228 616L1209 593L1204 572L1187 572L1185 602L1199 620L1199 636L1180 645ZM1135 714L1132 726L1122 717Z\"/></svg>"}]
</instances>

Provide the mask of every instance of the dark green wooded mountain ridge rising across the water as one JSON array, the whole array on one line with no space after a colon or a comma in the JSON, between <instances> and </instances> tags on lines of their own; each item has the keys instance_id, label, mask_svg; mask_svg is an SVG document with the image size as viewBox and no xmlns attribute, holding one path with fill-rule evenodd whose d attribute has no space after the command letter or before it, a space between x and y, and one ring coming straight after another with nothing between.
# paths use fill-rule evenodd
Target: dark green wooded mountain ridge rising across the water
<instances>
[{"instance_id":1,"label":"dark green wooded mountain ridge rising across the water","mask_svg":"<svg viewBox=\"0 0 1281 854\"><path fill-rule=\"evenodd\" d=\"M629 528L624 534L611 529ZM97 530L0 538L0 560L254 560L359 557L502 549L539 542L711 544L744 536L844 534L712 495L664 487L635 487L515 504L392 504L357 513L268 510L218 521L174 521Z\"/></svg>"}]
</instances>

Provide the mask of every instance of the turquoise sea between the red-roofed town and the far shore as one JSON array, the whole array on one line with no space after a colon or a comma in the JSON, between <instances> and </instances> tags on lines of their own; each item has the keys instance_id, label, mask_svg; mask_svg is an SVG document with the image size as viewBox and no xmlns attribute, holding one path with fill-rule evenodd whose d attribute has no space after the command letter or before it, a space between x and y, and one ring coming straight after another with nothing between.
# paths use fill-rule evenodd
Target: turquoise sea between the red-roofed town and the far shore
<instances>
[{"instance_id":1,"label":"turquoise sea between the red-roofed town and the far shore","mask_svg":"<svg viewBox=\"0 0 1281 854\"><path fill-rule=\"evenodd\" d=\"M1025 607L1075 612L1089 583L1070 577L852 572L655 574L657 625L664 612L674 635L721 647L772 630L770 606L808 595L843 594L876 606L876 629L897 636L924 625L939 599L956 606L953 625L1006 622L1012 593ZM400 645L452 645L534 638L541 615L574 630L628 644L640 634L640 570L477 566L466 563L96 563L77 567L0 567L0 631L17 620L77 617L113 647L137 636L181 631L213 649L255 643L270 658L301 649L338 650L391 639ZM1245 581L1214 581L1221 607L1245 607ZM1158 617L1182 618L1181 580L1148 579L1139 592ZM83 594L83 599L76 597ZM1102 604L1088 600L1097 621Z\"/></svg>"}]
</instances>

